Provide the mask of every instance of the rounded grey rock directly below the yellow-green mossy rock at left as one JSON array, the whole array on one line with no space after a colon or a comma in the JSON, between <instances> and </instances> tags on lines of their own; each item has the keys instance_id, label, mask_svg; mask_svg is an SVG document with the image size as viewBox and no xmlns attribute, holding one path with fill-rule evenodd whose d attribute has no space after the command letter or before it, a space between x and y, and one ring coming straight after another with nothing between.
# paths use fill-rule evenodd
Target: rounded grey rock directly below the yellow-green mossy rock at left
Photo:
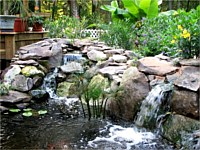
<instances>
[{"instance_id":1,"label":"rounded grey rock directly below the yellow-green mossy rock at left","mask_svg":"<svg viewBox=\"0 0 200 150\"><path fill-rule=\"evenodd\" d=\"M16 75L11 85L12 88L17 91L27 92L32 89L33 81L31 78L27 78L24 75Z\"/></svg>"}]
</instances>

